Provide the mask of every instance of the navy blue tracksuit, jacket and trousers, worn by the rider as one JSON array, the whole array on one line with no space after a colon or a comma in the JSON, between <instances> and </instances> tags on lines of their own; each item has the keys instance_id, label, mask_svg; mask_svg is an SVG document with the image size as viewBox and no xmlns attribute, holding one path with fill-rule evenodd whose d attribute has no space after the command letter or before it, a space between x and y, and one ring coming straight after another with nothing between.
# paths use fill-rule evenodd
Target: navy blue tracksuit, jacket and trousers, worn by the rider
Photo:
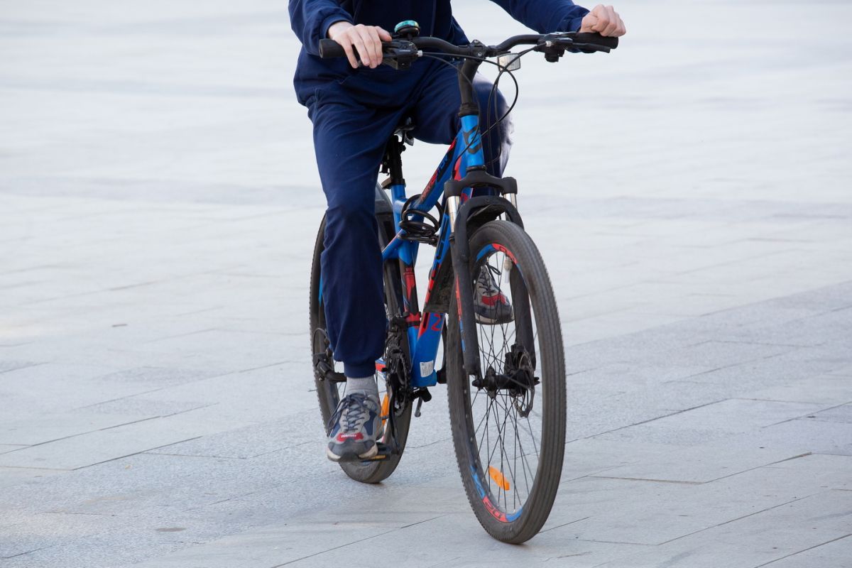
<instances>
[{"instance_id":1,"label":"navy blue tracksuit, jacket and trousers, worn by the rider","mask_svg":"<svg viewBox=\"0 0 852 568\"><path fill-rule=\"evenodd\" d=\"M588 14L568 0L493 2L539 33L576 31ZM452 142L458 130L458 75L435 60L418 60L405 71L353 69L343 57L320 59L320 38L341 20L391 32L402 20L416 20L423 36L457 45L468 39L452 18L450 0L290 0L290 17L302 40L296 97L314 123L314 150L328 202L321 259L327 331L346 376L371 376L383 353L386 326L373 215L378 166L395 126L407 116L417 125L412 134L418 140ZM498 97L498 112L487 112L490 90L489 83L477 83L483 130L506 108ZM504 121L483 145L494 175L502 173L509 131Z\"/></svg>"}]
</instances>

